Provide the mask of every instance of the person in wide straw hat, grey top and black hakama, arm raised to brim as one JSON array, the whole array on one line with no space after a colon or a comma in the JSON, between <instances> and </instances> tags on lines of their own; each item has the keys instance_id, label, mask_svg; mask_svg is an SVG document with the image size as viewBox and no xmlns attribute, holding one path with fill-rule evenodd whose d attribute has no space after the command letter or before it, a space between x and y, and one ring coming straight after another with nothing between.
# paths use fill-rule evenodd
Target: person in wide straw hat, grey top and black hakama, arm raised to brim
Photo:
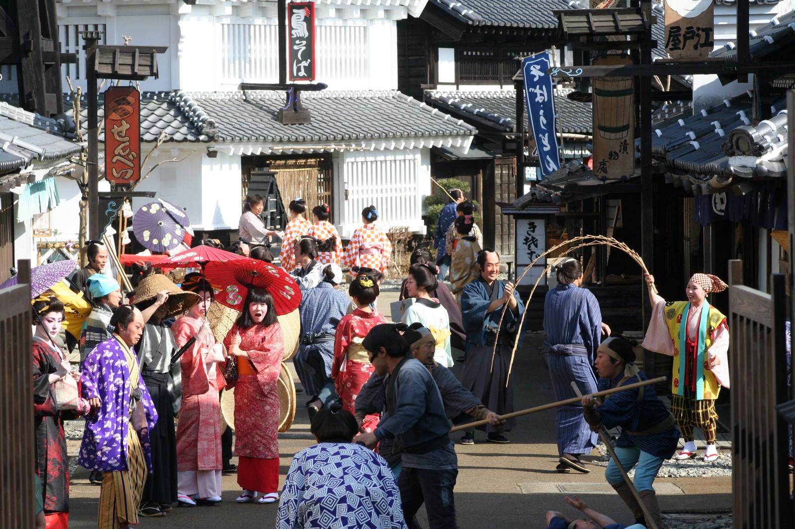
<instances>
[{"instance_id":1,"label":"person in wide straw hat, grey top and black hakama, arm raised to brim","mask_svg":"<svg viewBox=\"0 0 795 529\"><path fill-rule=\"evenodd\" d=\"M195 305L199 296L176 288L162 274L145 277L136 290L134 304L146 325L135 347L141 376L160 419L151 431L153 474L146 479L141 515L163 516L176 502L176 431L174 416L180 411L182 373L176 341L165 320Z\"/></svg>"}]
</instances>

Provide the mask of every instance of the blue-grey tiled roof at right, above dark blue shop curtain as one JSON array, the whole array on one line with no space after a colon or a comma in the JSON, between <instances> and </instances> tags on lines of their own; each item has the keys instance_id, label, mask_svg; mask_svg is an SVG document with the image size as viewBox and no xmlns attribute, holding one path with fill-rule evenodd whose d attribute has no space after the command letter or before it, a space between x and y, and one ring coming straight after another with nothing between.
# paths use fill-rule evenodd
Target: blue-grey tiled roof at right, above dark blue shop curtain
<instances>
[{"instance_id":1,"label":"blue-grey tiled roof at right, above dark blue shop curtain","mask_svg":"<svg viewBox=\"0 0 795 529\"><path fill-rule=\"evenodd\" d=\"M771 107L770 120L750 125L746 95L655 129L652 153L665 160L667 180L684 184L696 195L714 192L734 177L785 176L787 153L784 100ZM636 142L637 143L637 142Z\"/></svg>"}]
</instances>

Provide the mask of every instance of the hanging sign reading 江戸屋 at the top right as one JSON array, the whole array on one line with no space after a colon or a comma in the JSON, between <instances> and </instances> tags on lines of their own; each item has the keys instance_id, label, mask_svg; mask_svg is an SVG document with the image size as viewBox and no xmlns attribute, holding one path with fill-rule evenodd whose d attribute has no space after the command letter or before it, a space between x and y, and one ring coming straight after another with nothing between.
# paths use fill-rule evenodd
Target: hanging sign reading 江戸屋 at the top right
<instances>
[{"instance_id":1,"label":"hanging sign reading \u6c5f\u6238\u5c4b at the top right","mask_svg":"<svg viewBox=\"0 0 795 529\"><path fill-rule=\"evenodd\" d=\"M665 0L665 52L701 59L715 47L712 0Z\"/></svg>"}]
</instances>

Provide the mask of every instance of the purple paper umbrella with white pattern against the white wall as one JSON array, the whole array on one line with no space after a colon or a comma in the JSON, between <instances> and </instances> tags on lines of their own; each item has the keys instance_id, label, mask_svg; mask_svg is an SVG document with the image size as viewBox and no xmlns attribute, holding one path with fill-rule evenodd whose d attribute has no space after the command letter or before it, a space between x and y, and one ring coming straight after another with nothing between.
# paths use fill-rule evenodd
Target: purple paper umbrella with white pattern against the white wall
<instances>
[{"instance_id":1,"label":"purple paper umbrella with white pattern against the white wall","mask_svg":"<svg viewBox=\"0 0 795 529\"><path fill-rule=\"evenodd\" d=\"M135 238L153 252L176 248L185 236L185 226L190 226L188 215L170 203L168 207L161 202L145 204L133 217Z\"/></svg>"}]
</instances>

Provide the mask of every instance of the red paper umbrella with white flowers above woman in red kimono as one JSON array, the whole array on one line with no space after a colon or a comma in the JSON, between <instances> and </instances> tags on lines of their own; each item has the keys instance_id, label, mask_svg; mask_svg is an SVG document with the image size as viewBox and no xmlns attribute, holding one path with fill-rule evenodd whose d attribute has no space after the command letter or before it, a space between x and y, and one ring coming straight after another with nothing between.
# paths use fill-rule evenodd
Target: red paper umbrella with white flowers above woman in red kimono
<instances>
[{"instance_id":1,"label":"red paper umbrella with white flowers above woman in red kimono","mask_svg":"<svg viewBox=\"0 0 795 529\"><path fill-rule=\"evenodd\" d=\"M243 260L207 263L204 276L220 292L215 301L243 311L249 288L264 288L273 296L277 315L285 315L301 305L301 289L282 268L246 257Z\"/></svg>"}]
</instances>

